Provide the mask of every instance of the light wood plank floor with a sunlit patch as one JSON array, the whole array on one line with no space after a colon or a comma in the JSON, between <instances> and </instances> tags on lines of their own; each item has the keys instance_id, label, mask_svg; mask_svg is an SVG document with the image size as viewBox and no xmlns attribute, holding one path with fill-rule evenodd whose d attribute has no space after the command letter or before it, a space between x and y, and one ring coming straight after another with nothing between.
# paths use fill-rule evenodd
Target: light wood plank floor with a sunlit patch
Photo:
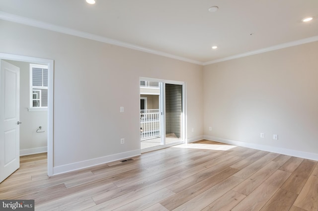
<instances>
[{"instance_id":1,"label":"light wood plank floor with a sunlit patch","mask_svg":"<svg viewBox=\"0 0 318 211\"><path fill-rule=\"evenodd\" d=\"M318 211L317 161L217 142L52 177L46 154L20 160L0 199L34 199L36 211Z\"/></svg>"}]
</instances>

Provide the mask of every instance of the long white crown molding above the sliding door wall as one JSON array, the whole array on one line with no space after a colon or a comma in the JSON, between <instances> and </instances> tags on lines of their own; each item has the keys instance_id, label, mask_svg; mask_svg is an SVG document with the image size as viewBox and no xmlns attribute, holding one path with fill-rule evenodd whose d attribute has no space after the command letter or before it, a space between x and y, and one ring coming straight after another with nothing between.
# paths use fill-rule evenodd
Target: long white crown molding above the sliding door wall
<instances>
[{"instance_id":1,"label":"long white crown molding above the sliding door wall","mask_svg":"<svg viewBox=\"0 0 318 211\"><path fill-rule=\"evenodd\" d=\"M121 42L121 41L110 39L107 37L83 32L83 31L79 31L79 30L75 30L75 29L71 29L71 28L67 28L67 27L63 27L63 26L54 25L54 24L50 24L50 23L47 23L44 21L39 21L39 20L35 20L35 19L31 19L31 18L19 16L19 15L14 15L14 14L7 13L7 12L0 11L0 19L10 21L10 22L19 23L19 24L24 24L24 25L28 25L28 26L33 26L33 27L37 27L37 28L41 28L41 29L47 29L50 31L60 32L63 34L73 35L73 36L77 36L77 37L81 37L81 38L85 38L85 39L89 39L89 40L94 40L94 41L98 41L98 42L102 42L102 43L107 43L107 44L111 44L111 45L115 45L115 46L120 46L120 47L124 47L124 48L128 48L128 49L133 49L133 50L137 50L137 51L141 51L141 52L152 53L152 54L156 54L156 55L160 55L160 56L164 56L164 57L168 57L168 58L186 61L189 63L203 65L203 62L201 62L201 61L185 58L182 56L173 55L170 53L164 53L164 52L156 51L153 49L144 48L141 46Z\"/></svg>"}]
</instances>

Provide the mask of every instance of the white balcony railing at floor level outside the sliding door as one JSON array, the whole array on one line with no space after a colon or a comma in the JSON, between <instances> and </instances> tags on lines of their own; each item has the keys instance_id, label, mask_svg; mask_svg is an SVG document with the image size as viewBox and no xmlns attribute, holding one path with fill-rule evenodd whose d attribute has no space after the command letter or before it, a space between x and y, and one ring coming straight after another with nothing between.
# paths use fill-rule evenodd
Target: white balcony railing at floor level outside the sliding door
<instances>
[{"instance_id":1,"label":"white balcony railing at floor level outside the sliding door","mask_svg":"<svg viewBox=\"0 0 318 211\"><path fill-rule=\"evenodd\" d=\"M140 110L140 137L147 140L160 137L159 109Z\"/></svg>"}]
</instances>

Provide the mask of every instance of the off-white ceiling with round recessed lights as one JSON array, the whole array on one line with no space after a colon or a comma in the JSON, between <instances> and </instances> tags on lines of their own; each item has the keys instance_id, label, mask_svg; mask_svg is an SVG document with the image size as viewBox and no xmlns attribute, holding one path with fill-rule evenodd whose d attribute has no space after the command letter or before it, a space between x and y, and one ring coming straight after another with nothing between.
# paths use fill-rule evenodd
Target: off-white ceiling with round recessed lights
<instances>
[{"instance_id":1,"label":"off-white ceiling with round recessed lights","mask_svg":"<svg viewBox=\"0 0 318 211\"><path fill-rule=\"evenodd\" d=\"M0 11L200 64L318 40L318 0L0 0Z\"/></svg>"}]
</instances>

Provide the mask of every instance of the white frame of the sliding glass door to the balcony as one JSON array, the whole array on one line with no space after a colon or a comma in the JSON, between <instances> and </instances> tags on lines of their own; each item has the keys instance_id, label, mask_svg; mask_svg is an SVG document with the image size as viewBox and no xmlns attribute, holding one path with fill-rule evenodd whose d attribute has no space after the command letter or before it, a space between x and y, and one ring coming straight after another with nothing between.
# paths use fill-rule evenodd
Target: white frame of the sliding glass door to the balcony
<instances>
[{"instance_id":1,"label":"white frame of the sliding glass door to the balcony","mask_svg":"<svg viewBox=\"0 0 318 211\"><path fill-rule=\"evenodd\" d=\"M166 148L166 147L170 147L173 145L178 145L181 144L181 142L175 142L175 143L171 143L171 144L165 144L165 84L176 84L176 85L182 85L182 107L183 107L183 111L182 111L182 143L187 143L187 133L186 133L186 127L187 127L187 107L186 107L186 82L182 82L182 81L173 81L173 80L163 80L163 79L156 79L156 78L148 78L148 77L139 77L139 84L140 81L156 81L159 83L163 84L163 87L160 89L160 95L162 95L162 101L160 102L159 99L159 108L162 106L162 112L163 112L163 118L161 121L161 125L162 128L164 128L163 130L160 131L161 133L161 141L164 142L164 145L159 145L156 147L151 147L151 148L146 148L146 149L142 149L141 152L142 153L146 153L146 152L150 152L150 151L154 151L154 150L158 150L158 149L162 149L162 148ZM162 92L162 93L161 93ZM139 97L140 97L140 89L139 89ZM140 108L140 100L139 100L139 108ZM138 113L140 112L140 110L138 111ZM162 143L161 143L162 144ZM140 143L141 145L141 143ZM140 146L141 148L141 146Z\"/></svg>"}]
</instances>

